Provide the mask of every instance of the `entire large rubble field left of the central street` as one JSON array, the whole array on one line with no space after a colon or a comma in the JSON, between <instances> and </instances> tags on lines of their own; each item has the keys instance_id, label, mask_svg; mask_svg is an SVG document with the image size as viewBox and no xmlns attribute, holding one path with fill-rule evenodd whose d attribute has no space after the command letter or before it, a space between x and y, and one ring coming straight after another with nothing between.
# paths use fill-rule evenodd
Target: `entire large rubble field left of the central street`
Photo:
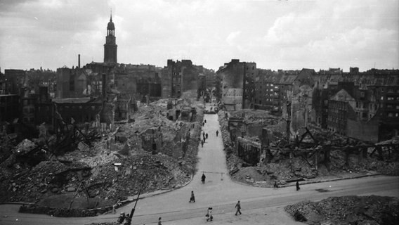
<instances>
[{"instance_id":1,"label":"entire large rubble field left of the central street","mask_svg":"<svg viewBox=\"0 0 399 225\"><path fill-rule=\"evenodd\" d=\"M86 209L87 204L79 205L86 198L98 199L96 205L106 205L136 195L140 188L145 193L186 184L197 163L203 106L198 102L190 104L197 110L192 121L171 121L166 117L164 102L139 108L131 115L131 122L118 123L114 131L101 131L102 135L98 135L94 134L96 128L88 128L99 138L86 142L74 139L70 145L73 149L62 155L42 149L37 141L22 141L0 164L0 200L54 207L47 204L51 202L48 200L70 199L72 194L72 209ZM185 107L190 103L180 102ZM156 130L162 136L155 150L143 146L143 134L148 130ZM26 163L35 155L45 157L36 157L34 164ZM68 202L59 207L69 206Z\"/></svg>"}]
</instances>

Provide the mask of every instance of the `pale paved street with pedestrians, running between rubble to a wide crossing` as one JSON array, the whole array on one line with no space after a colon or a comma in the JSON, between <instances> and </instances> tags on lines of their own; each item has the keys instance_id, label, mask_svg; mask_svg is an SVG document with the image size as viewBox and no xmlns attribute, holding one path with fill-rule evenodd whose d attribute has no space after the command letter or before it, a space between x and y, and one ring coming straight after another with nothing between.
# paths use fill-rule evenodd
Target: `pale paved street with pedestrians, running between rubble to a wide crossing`
<instances>
[{"instance_id":1,"label":"pale paved street with pedestrians, running between rubble to a wide crossing","mask_svg":"<svg viewBox=\"0 0 399 225\"><path fill-rule=\"evenodd\" d=\"M237 184L228 176L218 115L205 115L204 131L209 138L204 147L199 146L197 173L192 182L176 191L155 195L138 201L132 224L156 224L162 217L163 224L205 224L207 207L214 207L216 224L297 224L282 212L282 206L301 200L321 200L340 195L390 195L399 197L397 176L370 176L294 187L257 188ZM216 130L219 136L216 137ZM206 184L201 176L205 172ZM325 188L328 191L315 191ZM195 203L188 203L190 193L195 193ZM241 201L242 215L235 217L235 203ZM18 214L19 205L0 205L0 224L90 224L91 222L116 221L119 212L130 212L134 203L93 218L55 218L40 214ZM267 214L267 215L265 215ZM7 216L7 217L5 217ZM18 219L18 221L16 221Z\"/></svg>"}]
</instances>

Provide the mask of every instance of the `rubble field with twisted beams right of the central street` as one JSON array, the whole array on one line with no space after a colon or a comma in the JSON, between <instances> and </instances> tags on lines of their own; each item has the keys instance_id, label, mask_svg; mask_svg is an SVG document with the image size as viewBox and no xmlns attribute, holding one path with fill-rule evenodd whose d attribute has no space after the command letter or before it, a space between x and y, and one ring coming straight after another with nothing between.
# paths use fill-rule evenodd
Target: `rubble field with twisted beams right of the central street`
<instances>
[{"instance_id":1,"label":"rubble field with twisted beams right of the central street","mask_svg":"<svg viewBox=\"0 0 399 225\"><path fill-rule=\"evenodd\" d=\"M352 173L369 174L370 172L377 172L395 176L399 175L398 153L395 152L395 150L391 151L389 155L387 154L384 156L384 158L389 160L379 160L377 153L374 154L373 157L362 158L359 154L354 154L350 151L346 152L341 149L332 149L329 154L329 161L320 158L319 165L316 169L314 159L306 159L303 152L296 151L295 149L292 152L293 154L291 156L289 155L287 150L294 148L289 146L285 138L287 122L284 120L274 118L273 115L268 115L268 113L262 110L238 110L230 115L225 111L219 111L218 115L228 169L230 175L237 181L256 183L259 185L273 185L275 181L279 184L285 184L286 181L294 179L315 179L322 176L341 176L343 174ZM270 141L270 153L273 155L273 158L269 158L270 161L259 163L253 167L239 158L235 150L235 143L232 143L230 140L228 117L226 117L226 115L229 117L244 118L244 122L247 124L251 122L272 122L271 124L267 124L266 127L268 130L273 131L274 141ZM318 146L321 142L341 146L342 148L348 145L357 145L354 140L332 133L331 131L325 131L318 127L309 126L308 129L304 129L303 131L305 133L299 135L297 141L301 140L301 143L305 143L308 146L317 146L317 148L321 148L321 146ZM313 138L320 142L315 143ZM244 136L244 139L259 142L259 136ZM295 145L295 143L290 144ZM370 149L369 153L371 153L372 150L373 149Z\"/></svg>"}]
</instances>

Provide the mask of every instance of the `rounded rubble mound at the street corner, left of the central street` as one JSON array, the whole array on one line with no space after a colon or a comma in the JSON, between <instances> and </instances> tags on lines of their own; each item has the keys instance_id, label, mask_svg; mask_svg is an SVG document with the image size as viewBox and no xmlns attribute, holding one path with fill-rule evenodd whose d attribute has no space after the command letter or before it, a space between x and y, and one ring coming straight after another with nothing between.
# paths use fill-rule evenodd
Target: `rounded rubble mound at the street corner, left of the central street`
<instances>
[{"instance_id":1,"label":"rounded rubble mound at the street corner, left of the central street","mask_svg":"<svg viewBox=\"0 0 399 225\"><path fill-rule=\"evenodd\" d=\"M184 172L177 160L144 151L131 158L119 158L112 164L100 165L92 169L92 173L89 194L104 199L133 196L140 188L143 193L175 188L190 181L189 172Z\"/></svg>"}]
</instances>

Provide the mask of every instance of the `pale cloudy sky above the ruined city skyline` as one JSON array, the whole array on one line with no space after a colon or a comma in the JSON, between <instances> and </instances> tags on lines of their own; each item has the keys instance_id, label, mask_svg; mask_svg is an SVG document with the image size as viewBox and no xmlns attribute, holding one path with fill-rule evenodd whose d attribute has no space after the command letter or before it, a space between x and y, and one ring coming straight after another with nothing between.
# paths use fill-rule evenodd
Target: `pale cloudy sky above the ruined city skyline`
<instances>
[{"instance_id":1,"label":"pale cloudy sky above the ruined city skyline","mask_svg":"<svg viewBox=\"0 0 399 225\"><path fill-rule=\"evenodd\" d=\"M111 8L119 63L399 68L397 0L1 0L1 71L102 62Z\"/></svg>"}]
</instances>

